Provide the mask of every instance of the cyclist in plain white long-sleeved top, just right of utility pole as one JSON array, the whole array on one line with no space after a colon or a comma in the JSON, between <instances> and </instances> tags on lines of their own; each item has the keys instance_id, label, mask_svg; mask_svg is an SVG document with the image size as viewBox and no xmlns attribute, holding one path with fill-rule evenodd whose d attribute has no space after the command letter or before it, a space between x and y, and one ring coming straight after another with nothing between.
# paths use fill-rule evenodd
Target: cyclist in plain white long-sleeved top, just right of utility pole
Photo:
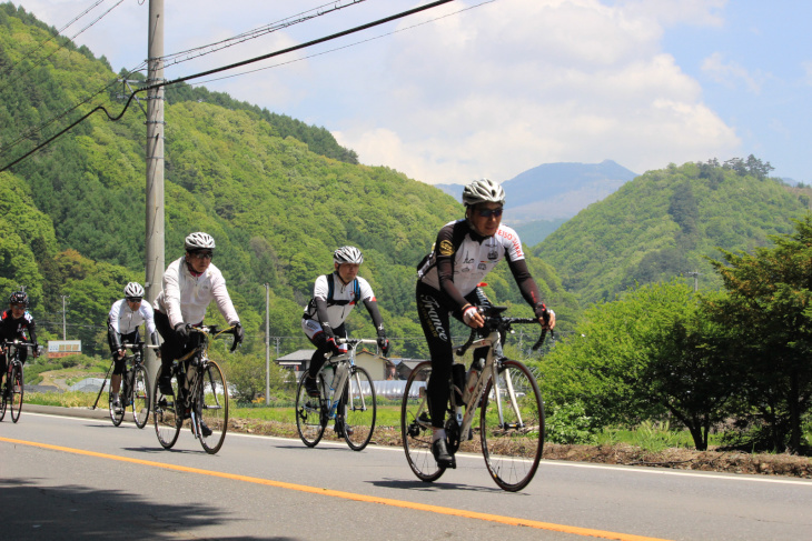
<instances>
[{"instance_id":1,"label":"cyclist in plain white long-sleeved top, just right of utility pole","mask_svg":"<svg viewBox=\"0 0 812 541\"><path fill-rule=\"evenodd\" d=\"M245 334L226 289L226 279L211 263L215 239L198 231L186 238L184 247L186 254L169 263L164 273L161 292L152 304L155 324L164 338L160 348L162 375L158 385L166 394L172 392L172 361L197 345L196 340L189 340L189 327L202 324L206 308L212 300L217 302L217 308L228 324L236 327L237 343L242 342ZM200 424L204 435L210 435L211 430L205 423Z\"/></svg>"}]
</instances>

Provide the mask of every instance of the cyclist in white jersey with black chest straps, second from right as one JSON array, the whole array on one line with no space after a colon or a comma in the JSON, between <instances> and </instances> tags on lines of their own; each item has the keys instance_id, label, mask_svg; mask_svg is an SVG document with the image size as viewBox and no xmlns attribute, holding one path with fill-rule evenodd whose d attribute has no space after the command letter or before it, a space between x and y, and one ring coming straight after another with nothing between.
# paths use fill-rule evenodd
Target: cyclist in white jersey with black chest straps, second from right
<instances>
[{"instance_id":1,"label":"cyclist in white jersey with black chest straps, second from right","mask_svg":"<svg viewBox=\"0 0 812 541\"><path fill-rule=\"evenodd\" d=\"M341 247L333 252L333 273L321 274L316 279L313 299L301 317L301 329L316 347L305 375L305 389L310 397L318 397L316 377L326 361L325 354L336 355L347 351L347 345L339 347L336 338L347 338L344 321L358 301L364 302L373 319L378 333L378 348L384 355L389 352L389 340L386 338L375 293L369 282L358 275L363 262L364 256L360 250L355 247Z\"/></svg>"}]
</instances>

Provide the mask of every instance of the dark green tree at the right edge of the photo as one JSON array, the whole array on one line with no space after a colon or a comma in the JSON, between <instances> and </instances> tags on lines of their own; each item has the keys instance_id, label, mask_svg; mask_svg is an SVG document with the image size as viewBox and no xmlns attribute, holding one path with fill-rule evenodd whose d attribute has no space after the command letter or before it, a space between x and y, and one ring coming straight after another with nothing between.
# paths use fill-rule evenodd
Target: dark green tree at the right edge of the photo
<instances>
[{"instance_id":1,"label":"dark green tree at the right edge of the photo","mask_svg":"<svg viewBox=\"0 0 812 541\"><path fill-rule=\"evenodd\" d=\"M766 424L770 447L792 452L812 397L812 217L795 223L774 247L723 251L726 264L713 266L729 294L709 304L737 347L743 402Z\"/></svg>"}]
</instances>

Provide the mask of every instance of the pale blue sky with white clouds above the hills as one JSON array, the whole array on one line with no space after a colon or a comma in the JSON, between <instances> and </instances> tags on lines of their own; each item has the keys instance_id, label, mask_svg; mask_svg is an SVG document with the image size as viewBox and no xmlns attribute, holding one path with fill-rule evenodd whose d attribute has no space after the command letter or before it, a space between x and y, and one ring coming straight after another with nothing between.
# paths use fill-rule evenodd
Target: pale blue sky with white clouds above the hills
<instances>
[{"instance_id":1,"label":"pale blue sky with white clouds above the hills","mask_svg":"<svg viewBox=\"0 0 812 541\"><path fill-rule=\"evenodd\" d=\"M150 3L119 1L13 3L57 29L67 26L62 36L118 72L147 58ZM166 0L165 54L319 7L328 12L168 66L165 77L427 3ZM336 6L345 7L331 11ZM554 162L614 160L643 173L753 154L770 162L772 176L809 184L810 20L806 0L455 0L188 82L324 127L362 163L427 183L505 181Z\"/></svg>"}]
</instances>

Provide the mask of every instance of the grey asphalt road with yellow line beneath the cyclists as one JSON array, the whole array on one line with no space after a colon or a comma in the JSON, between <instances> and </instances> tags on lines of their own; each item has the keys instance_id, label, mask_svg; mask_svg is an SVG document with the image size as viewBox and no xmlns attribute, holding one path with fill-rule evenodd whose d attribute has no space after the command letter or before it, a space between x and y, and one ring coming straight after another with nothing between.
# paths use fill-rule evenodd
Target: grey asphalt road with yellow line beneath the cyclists
<instances>
[{"instance_id":1,"label":"grey asphalt road with yellow line beneath the cyclists","mask_svg":"<svg viewBox=\"0 0 812 541\"><path fill-rule=\"evenodd\" d=\"M424 483L400 449L229 433L209 455L187 430L166 451L151 424L33 410L69 412L0 423L2 539L812 538L808 480L542 461L507 493L478 455Z\"/></svg>"}]
</instances>

